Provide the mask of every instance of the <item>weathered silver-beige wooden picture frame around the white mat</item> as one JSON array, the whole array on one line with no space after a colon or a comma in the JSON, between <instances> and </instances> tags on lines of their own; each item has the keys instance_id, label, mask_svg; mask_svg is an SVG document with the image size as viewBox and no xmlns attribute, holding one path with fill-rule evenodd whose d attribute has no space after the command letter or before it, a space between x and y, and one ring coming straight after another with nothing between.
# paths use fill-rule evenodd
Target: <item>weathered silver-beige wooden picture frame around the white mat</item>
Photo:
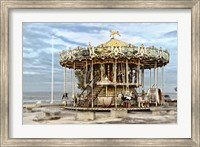
<instances>
[{"instance_id":1,"label":"weathered silver-beige wooden picture frame around the white mat","mask_svg":"<svg viewBox=\"0 0 200 147\"><path fill-rule=\"evenodd\" d=\"M189 139L55 139L9 137L9 13L12 9L191 9L192 12L192 137ZM200 1L1 1L0 98L1 146L200 146Z\"/></svg>"}]
</instances>

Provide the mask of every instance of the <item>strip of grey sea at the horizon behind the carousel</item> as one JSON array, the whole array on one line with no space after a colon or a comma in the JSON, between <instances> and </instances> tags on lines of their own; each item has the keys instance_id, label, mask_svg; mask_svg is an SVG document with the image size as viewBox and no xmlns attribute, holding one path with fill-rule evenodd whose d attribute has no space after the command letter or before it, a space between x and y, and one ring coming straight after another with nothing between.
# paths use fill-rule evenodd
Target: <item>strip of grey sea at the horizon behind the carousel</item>
<instances>
[{"instance_id":1,"label":"strip of grey sea at the horizon behind the carousel","mask_svg":"<svg viewBox=\"0 0 200 147\"><path fill-rule=\"evenodd\" d=\"M177 93L175 92L166 92L166 95L169 95L172 99L177 99ZM62 100L63 92L54 92L53 93L53 102L60 103ZM71 93L68 93L69 101L72 101ZM50 103L51 101L51 92L23 92L23 103Z\"/></svg>"}]
</instances>

